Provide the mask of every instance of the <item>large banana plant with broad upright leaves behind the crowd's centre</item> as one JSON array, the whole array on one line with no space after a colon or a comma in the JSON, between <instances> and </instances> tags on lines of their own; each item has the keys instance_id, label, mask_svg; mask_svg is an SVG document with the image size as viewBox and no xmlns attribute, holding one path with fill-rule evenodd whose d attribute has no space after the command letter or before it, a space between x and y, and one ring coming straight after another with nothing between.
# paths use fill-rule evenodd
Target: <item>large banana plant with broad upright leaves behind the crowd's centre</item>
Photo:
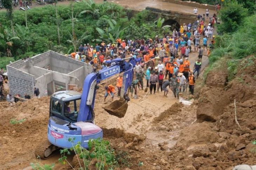
<instances>
[{"instance_id":1,"label":"large banana plant with broad upright leaves behind the crowd's centre","mask_svg":"<svg viewBox=\"0 0 256 170\"><path fill-rule=\"evenodd\" d=\"M102 40L106 42L114 43L117 38L123 38L124 29L120 28L120 25L116 23L115 20L107 20L109 27L105 29L96 28L96 30L99 32L101 39L95 39L94 41L101 42Z\"/></svg>"}]
</instances>

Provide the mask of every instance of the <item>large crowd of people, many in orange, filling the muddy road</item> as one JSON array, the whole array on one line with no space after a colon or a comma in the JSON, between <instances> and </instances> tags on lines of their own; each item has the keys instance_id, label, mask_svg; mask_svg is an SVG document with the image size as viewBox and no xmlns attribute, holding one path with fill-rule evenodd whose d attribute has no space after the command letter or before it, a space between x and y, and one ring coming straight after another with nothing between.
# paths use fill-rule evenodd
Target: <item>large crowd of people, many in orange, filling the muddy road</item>
<instances>
[{"instance_id":1,"label":"large crowd of people, many in orange, filling the muddy road","mask_svg":"<svg viewBox=\"0 0 256 170\"><path fill-rule=\"evenodd\" d=\"M209 17L209 10L206 9L206 15L198 14L193 24L184 23L179 29L174 29L161 37L134 40L117 38L115 43L102 41L95 46L81 44L78 52L66 54L66 56L88 62L95 72L110 66L105 63L106 60L134 57L135 77L128 90L132 98L137 98L138 89L143 90L148 87L150 94L161 90L167 97L168 86L173 91L174 97L179 98L179 93L186 92L188 85L189 93L193 95L195 77L200 74L203 53L207 50L205 56L209 56L214 47L213 31L216 20L216 14ZM193 69L190 69L189 61L191 52L198 53L198 60ZM146 86L143 79L146 79ZM117 78L116 87L120 96L122 75ZM108 95L113 98L115 86L109 85L105 89L105 100Z\"/></svg>"}]
</instances>

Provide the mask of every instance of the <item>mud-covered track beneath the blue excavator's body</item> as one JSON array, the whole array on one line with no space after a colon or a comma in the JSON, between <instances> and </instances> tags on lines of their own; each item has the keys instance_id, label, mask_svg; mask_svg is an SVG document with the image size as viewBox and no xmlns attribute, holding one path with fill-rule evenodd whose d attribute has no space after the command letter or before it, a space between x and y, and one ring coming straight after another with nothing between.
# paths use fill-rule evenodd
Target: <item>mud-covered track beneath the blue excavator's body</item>
<instances>
[{"instance_id":1,"label":"mud-covered track beneath the blue excavator's body","mask_svg":"<svg viewBox=\"0 0 256 170\"><path fill-rule=\"evenodd\" d=\"M40 159L46 160L51 156L54 150L57 150L59 147L52 145L48 140L42 142L35 149L35 156L40 157Z\"/></svg>"}]
</instances>

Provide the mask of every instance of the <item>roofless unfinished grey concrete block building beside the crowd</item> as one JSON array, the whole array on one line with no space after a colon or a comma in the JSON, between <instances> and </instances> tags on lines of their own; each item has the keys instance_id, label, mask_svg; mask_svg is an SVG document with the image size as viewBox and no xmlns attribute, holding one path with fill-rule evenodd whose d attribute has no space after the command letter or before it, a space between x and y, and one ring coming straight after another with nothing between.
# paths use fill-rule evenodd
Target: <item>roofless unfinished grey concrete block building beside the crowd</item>
<instances>
[{"instance_id":1,"label":"roofless unfinished grey concrete block building beside the crowd","mask_svg":"<svg viewBox=\"0 0 256 170\"><path fill-rule=\"evenodd\" d=\"M7 65L10 93L21 97L34 96L34 87L39 88L40 96L69 90L75 85L83 87L85 77L91 72L89 64L53 51Z\"/></svg>"}]
</instances>

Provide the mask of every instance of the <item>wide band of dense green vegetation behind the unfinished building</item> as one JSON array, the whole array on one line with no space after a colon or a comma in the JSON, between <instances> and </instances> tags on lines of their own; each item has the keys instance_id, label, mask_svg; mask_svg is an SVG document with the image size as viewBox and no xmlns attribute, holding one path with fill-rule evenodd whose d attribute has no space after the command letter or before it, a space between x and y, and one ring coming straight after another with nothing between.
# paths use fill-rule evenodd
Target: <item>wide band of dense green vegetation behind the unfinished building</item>
<instances>
[{"instance_id":1,"label":"wide band of dense green vegetation behind the unfinished building","mask_svg":"<svg viewBox=\"0 0 256 170\"><path fill-rule=\"evenodd\" d=\"M117 37L152 38L168 30L160 28L157 15L149 11L130 17L132 12L119 5L96 4L92 0L56 8L53 5L32 8L26 15L15 10L12 15L10 20L5 11L0 12L0 57L12 56L15 60L48 50L70 53L80 44L114 42Z\"/></svg>"}]
</instances>

